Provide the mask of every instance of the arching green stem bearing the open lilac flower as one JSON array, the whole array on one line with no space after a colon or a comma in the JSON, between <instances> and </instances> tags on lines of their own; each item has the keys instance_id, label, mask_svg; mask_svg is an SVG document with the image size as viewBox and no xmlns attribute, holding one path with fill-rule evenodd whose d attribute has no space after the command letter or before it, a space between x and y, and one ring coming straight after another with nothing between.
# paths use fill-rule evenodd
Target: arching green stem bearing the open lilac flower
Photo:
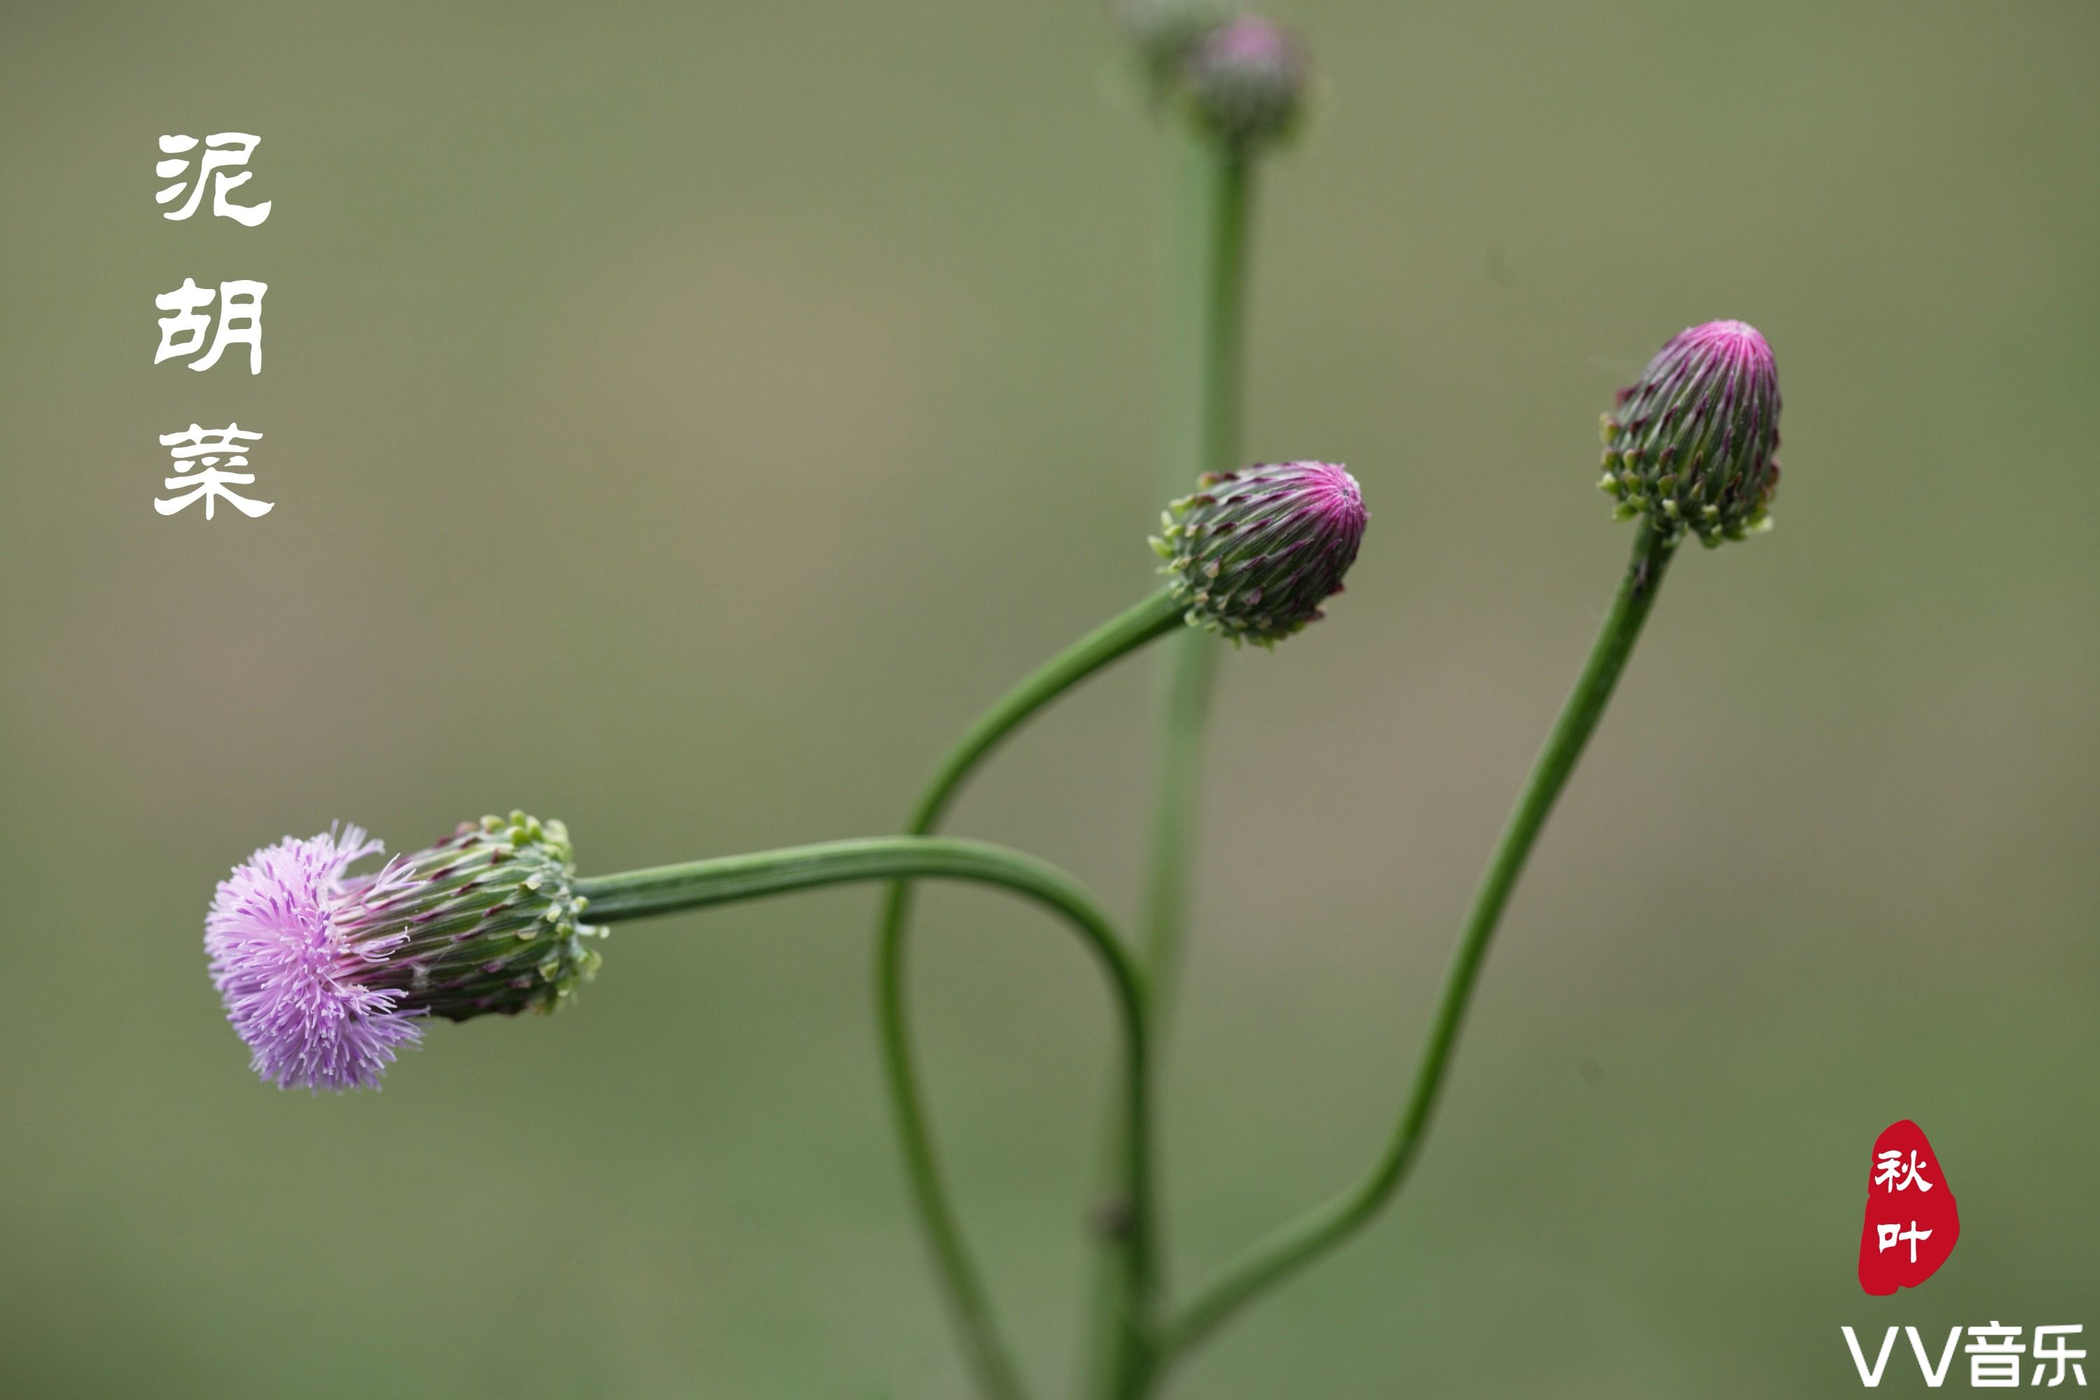
<instances>
[{"instance_id":1,"label":"arching green stem bearing the open lilac flower","mask_svg":"<svg viewBox=\"0 0 2100 1400\"><path fill-rule=\"evenodd\" d=\"M1124 1031L1124 1123L1126 1142L1124 1173L1130 1182L1130 1219L1136 1236L1142 1222L1151 1217L1151 1056L1147 1052L1144 1026L1144 980L1130 953L1124 949L1115 926L1100 911L1100 905L1067 873L1037 861L1035 856L989 846L985 842L958 842L949 837L892 835L850 842L825 842L821 846L790 846L750 856L724 856L716 861L691 861L687 865L662 865L655 869L628 871L624 875L601 875L580 879L575 892L590 905L592 924L617 924L624 919L645 919L659 913L685 909L706 909L733 900L785 894L792 890L815 890L834 884L865 879L964 879L1012 890L1033 898L1079 934L1102 972L1115 997L1115 1014ZM903 888L901 884L895 888ZM930 1159L928 1159L930 1165ZM949 1222L951 1224L951 1222ZM958 1240L960 1249L960 1240ZM1132 1247L1132 1287L1144 1289L1138 1264L1147 1251ZM985 1318L989 1322L989 1316ZM985 1333L985 1339L995 1339ZM1004 1364L1004 1354L989 1352L993 1362ZM983 1362L985 1356L972 1354ZM998 1371L1004 1392L1021 1394L1012 1369ZM989 1375L981 1379L991 1383Z\"/></svg>"}]
</instances>

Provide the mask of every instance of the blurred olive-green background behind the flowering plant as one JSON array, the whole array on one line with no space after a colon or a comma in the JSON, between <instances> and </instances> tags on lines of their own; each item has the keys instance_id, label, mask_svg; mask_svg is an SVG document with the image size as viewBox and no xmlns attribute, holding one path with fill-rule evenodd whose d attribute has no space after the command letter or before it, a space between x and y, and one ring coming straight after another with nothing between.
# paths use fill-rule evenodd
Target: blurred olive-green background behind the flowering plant
<instances>
[{"instance_id":1,"label":"blurred olive-green background behind the flowering plant","mask_svg":"<svg viewBox=\"0 0 2100 1400\"><path fill-rule=\"evenodd\" d=\"M1329 621L1224 672L1182 1291L1390 1127L1630 542L1611 390L1756 321L1787 476L1674 571L1399 1209L1176 1394L1850 1394L1846 1322L2092 1348L2100 13L1287 17L1323 90L1264 176L1247 447L1376 518ZM0 113L0 1392L964 1394L872 892L624 928L573 1012L344 1098L254 1081L200 926L336 819L525 806L586 871L888 829L1151 588L1163 147L1105 6L17 0ZM162 220L153 139L229 128L269 222ZM260 378L149 363L183 277L269 281ZM155 516L155 437L233 418L275 514ZM1151 680L956 829L1128 909ZM1056 1394L1100 987L1021 905L926 917L943 1140ZM1869 1299L1900 1117L1966 1232Z\"/></svg>"}]
</instances>

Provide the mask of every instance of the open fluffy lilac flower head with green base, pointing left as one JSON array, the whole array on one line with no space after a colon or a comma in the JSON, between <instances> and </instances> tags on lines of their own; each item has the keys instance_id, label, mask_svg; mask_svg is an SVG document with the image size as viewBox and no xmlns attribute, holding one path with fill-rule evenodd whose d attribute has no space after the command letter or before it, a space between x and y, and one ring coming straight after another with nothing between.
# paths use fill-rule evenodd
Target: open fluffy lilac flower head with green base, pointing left
<instances>
[{"instance_id":1,"label":"open fluffy lilac flower head with green base, pointing left","mask_svg":"<svg viewBox=\"0 0 2100 1400\"><path fill-rule=\"evenodd\" d=\"M212 984L279 1087L378 1087L426 1016L550 1012L598 968L559 821L483 816L349 873L380 850L359 827L288 835L218 882Z\"/></svg>"}]
</instances>

